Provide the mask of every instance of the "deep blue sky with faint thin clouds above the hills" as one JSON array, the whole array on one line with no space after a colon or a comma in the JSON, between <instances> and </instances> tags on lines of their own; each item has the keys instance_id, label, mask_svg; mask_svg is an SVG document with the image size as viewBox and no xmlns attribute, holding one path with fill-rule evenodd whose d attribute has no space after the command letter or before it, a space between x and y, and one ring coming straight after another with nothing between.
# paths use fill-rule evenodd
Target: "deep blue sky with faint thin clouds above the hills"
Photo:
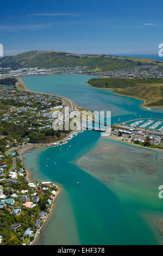
<instances>
[{"instance_id":1,"label":"deep blue sky with faint thin clouds above the hills","mask_svg":"<svg viewBox=\"0 0 163 256\"><path fill-rule=\"evenodd\" d=\"M1 1L4 55L25 51L156 54L163 43L163 1Z\"/></svg>"}]
</instances>

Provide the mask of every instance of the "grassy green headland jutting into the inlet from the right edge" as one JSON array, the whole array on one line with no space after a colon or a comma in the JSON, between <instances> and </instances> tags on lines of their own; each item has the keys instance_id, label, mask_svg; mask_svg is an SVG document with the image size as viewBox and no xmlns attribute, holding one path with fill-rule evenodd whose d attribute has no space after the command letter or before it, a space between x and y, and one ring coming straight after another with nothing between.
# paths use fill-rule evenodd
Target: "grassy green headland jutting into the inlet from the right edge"
<instances>
[{"instance_id":1,"label":"grassy green headland jutting into the inlet from the right edge","mask_svg":"<svg viewBox=\"0 0 163 256\"><path fill-rule=\"evenodd\" d=\"M92 78L87 81L96 88L112 88L112 92L143 100L143 106L163 107L163 79Z\"/></svg>"}]
</instances>

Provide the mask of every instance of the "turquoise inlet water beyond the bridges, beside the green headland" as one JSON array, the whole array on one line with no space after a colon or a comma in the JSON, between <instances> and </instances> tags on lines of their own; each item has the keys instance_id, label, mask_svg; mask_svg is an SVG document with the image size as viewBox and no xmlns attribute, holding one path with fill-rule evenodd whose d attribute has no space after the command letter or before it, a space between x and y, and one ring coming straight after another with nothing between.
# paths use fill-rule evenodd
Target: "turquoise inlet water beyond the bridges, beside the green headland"
<instances>
[{"instance_id":1,"label":"turquoise inlet water beyond the bridges, beside the green headland","mask_svg":"<svg viewBox=\"0 0 163 256\"><path fill-rule=\"evenodd\" d=\"M54 93L67 96L74 100L78 106L97 110L111 111L112 123L133 120L141 117L161 118L163 109L155 108L148 111L141 108L141 100L113 94L111 90L95 89L87 86L85 82L92 78L89 75L52 75L52 76L28 76L23 80L28 88L37 92ZM136 114L136 115L135 115Z\"/></svg>"}]
</instances>

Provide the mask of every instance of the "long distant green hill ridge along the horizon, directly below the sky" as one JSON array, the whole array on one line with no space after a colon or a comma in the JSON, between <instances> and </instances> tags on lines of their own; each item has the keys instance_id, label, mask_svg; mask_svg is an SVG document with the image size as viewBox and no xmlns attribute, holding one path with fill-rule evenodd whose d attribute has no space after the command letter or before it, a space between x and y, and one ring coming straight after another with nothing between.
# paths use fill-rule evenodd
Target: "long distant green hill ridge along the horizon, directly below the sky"
<instances>
[{"instance_id":1,"label":"long distant green hill ridge along the horizon, directly below the sky","mask_svg":"<svg viewBox=\"0 0 163 256\"><path fill-rule=\"evenodd\" d=\"M0 59L1 68L51 68L61 66L89 66L90 69L112 71L143 64L163 65L152 59L128 58L102 54L73 54L54 51L30 51Z\"/></svg>"}]
</instances>

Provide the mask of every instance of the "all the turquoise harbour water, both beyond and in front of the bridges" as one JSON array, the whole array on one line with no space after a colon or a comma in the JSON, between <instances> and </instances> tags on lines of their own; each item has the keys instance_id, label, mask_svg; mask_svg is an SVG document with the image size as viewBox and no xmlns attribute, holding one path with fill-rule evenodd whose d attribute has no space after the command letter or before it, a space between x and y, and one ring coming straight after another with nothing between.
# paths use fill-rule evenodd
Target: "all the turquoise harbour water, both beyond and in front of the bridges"
<instances>
[{"instance_id":1,"label":"all the turquoise harbour water, both beyond and in front of the bridges","mask_svg":"<svg viewBox=\"0 0 163 256\"><path fill-rule=\"evenodd\" d=\"M140 107L140 100L87 86L84 82L89 78L85 75L55 75L26 77L24 82L35 91L71 97L83 108L111 110L112 123L118 118L121 121L134 119L135 113L142 115L142 118L151 115L162 118L162 109L148 111ZM151 211L163 212L157 196L158 180L163 178L162 153L156 156L150 150L136 151L131 145L126 148L126 145L118 143L101 138L99 132L85 131L62 145L61 151L59 147L47 150L37 148L25 155L24 163L32 169L35 179L52 180L62 186L53 217L37 244L162 243L156 229L143 216ZM128 159L131 151L133 159ZM151 164L150 169L150 161L154 163L158 159L158 164L154 167ZM146 190L143 190L143 185Z\"/></svg>"}]
</instances>

